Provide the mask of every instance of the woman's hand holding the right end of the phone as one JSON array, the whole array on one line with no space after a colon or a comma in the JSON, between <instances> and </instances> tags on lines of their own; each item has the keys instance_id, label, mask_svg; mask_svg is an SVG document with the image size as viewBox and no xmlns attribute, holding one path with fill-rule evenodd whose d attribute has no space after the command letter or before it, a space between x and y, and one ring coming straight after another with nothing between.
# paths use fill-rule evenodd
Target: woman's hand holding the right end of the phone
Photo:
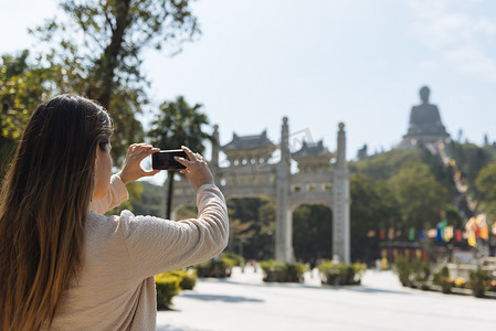
<instances>
[{"instance_id":1,"label":"woman's hand holding the right end of the phone","mask_svg":"<svg viewBox=\"0 0 496 331\"><path fill-rule=\"evenodd\" d=\"M186 146L182 146L181 148L189 160L179 157L175 158L176 161L186 167L186 169L180 170L180 172L186 174L186 178L197 189L200 189L200 186L204 184L214 184L212 172L210 172L205 159L199 153L193 153Z\"/></svg>"}]
</instances>

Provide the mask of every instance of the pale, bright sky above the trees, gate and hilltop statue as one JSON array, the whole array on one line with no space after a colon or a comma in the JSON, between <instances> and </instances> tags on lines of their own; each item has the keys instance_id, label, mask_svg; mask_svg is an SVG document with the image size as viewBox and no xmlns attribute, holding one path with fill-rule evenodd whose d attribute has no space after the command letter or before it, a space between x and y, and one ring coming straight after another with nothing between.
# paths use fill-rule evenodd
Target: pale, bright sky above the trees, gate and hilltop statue
<instances>
[{"instance_id":1,"label":"pale, bright sky above the trees, gate and hilltop statue","mask_svg":"<svg viewBox=\"0 0 496 331\"><path fill-rule=\"evenodd\" d=\"M0 54L31 47L53 0L0 0ZM419 89L431 89L447 132L496 140L496 1L211 0L193 3L202 34L171 57L146 51L152 106L182 95L202 104L220 142L267 130L279 141L288 117L303 139L347 157L365 143L389 150L407 134ZM147 111L145 126L152 114Z\"/></svg>"}]
</instances>

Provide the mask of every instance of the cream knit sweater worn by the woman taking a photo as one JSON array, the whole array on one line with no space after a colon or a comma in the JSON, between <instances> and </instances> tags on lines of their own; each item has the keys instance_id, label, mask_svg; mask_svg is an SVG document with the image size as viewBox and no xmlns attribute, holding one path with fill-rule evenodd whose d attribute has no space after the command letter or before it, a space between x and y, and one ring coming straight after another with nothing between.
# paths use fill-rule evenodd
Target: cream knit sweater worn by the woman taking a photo
<instances>
[{"instance_id":1,"label":"cream knit sweater worn by the woman taking a photo","mask_svg":"<svg viewBox=\"0 0 496 331\"><path fill-rule=\"evenodd\" d=\"M228 243L228 210L215 185L198 190L198 218L179 222L102 215L127 197L114 175L107 196L92 203L83 267L50 330L155 330L154 275L204 261Z\"/></svg>"}]
</instances>

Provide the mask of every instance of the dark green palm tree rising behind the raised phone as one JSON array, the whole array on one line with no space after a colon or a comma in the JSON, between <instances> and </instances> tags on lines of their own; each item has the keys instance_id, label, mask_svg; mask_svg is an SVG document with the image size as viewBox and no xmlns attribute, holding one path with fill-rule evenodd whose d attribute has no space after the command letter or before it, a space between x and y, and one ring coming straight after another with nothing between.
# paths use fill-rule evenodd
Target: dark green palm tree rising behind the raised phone
<instances>
[{"instance_id":1,"label":"dark green palm tree rising behind the raised phone","mask_svg":"<svg viewBox=\"0 0 496 331\"><path fill-rule=\"evenodd\" d=\"M148 132L151 143L160 149L179 149L187 146L192 151L202 153L203 141L212 140L213 137L203 131L203 125L208 125L209 120L205 114L200 113L201 107L200 104L189 106L182 96L178 96L175 102L163 102ZM175 173L168 171L167 181L163 183L167 186L166 218L170 218Z\"/></svg>"}]
</instances>

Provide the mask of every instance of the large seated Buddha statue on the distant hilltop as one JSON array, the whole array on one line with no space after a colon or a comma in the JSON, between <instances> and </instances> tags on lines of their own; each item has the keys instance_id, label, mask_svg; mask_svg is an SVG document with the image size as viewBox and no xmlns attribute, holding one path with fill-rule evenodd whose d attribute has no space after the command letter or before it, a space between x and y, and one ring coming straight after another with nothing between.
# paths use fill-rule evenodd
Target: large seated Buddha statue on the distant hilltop
<instances>
[{"instance_id":1,"label":"large seated Buddha statue on the distant hilltop","mask_svg":"<svg viewBox=\"0 0 496 331\"><path fill-rule=\"evenodd\" d=\"M415 147L421 142L437 142L448 138L437 106L429 103L431 92L428 86L420 89L421 104L410 111L408 134L403 136L402 147Z\"/></svg>"}]
</instances>

